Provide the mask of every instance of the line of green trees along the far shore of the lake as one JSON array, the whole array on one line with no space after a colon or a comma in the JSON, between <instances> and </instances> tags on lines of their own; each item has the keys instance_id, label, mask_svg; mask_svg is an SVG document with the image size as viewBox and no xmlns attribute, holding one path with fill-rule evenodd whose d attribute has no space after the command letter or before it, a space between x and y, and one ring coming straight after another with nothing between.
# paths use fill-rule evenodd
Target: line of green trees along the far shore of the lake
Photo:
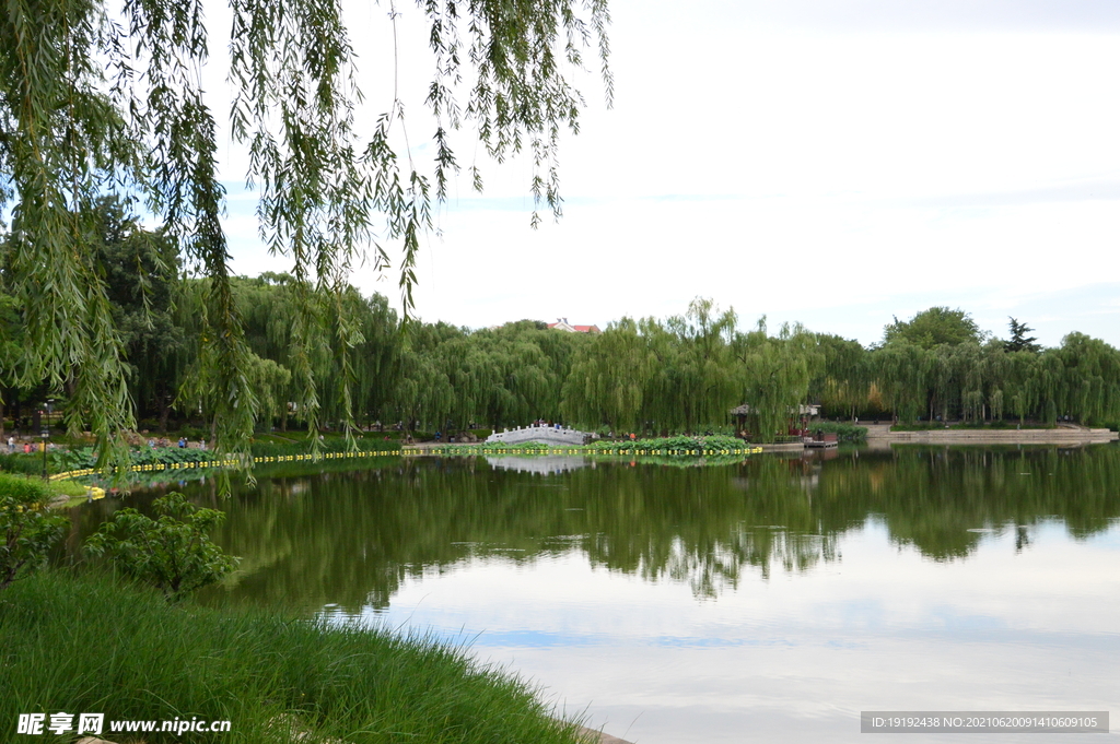
<instances>
[{"instance_id":1,"label":"line of green trees along the far shore of the lake","mask_svg":"<svg viewBox=\"0 0 1120 744\"><path fill-rule=\"evenodd\" d=\"M189 276L172 242L116 200L101 200L92 224L93 269L108 286L141 427L212 421L224 388L208 380L205 360L211 280ZM6 266L12 251L2 245ZM1043 348L1016 319L1008 339L995 338L949 308L894 319L879 343L864 347L800 324L775 332L765 318L743 329L734 310L707 299L681 316L622 318L601 333L570 333L534 320L478 330L402 323L379 294L323 291L289 274L230 284L249 348L239 373L253 390L258 430L343 426L353 412L358 426L410 431L543 418L651 434L735 424L767 441L808 403L844 420L1120 422L1120 351L1077 332ZM68 405L83 399L82 376L59 385L21 366L25 318L20 298L0 282L7 414L26 425L53 397L67 416L88 422L96 412ZM743 405L732 422L730 409Z\"/></svg>"}]
</instances>

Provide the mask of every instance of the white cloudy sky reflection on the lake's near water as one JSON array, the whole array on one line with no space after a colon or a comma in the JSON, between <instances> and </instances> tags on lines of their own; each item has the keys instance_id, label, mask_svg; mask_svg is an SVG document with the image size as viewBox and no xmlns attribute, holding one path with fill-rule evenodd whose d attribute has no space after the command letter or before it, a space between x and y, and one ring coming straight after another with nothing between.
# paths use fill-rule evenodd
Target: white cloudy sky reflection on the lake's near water
<instances>
[{"instance_id":1,"label":"white cloudy sky reflection on the lake's near water","mask_svg":"<svg viewBox=\"0 0 1120 744\"><path fill-rule=\"evenodd\" d=\"M943 563L872 521L843 537L842 559L775 566L768 581L745 567L716 600L592 567L579 550L531 568L474 559L409 580L366 619L470 639L479 659L648 744L745 731L858 742L861 709L1108 709L1116 530L1075 541L1051 522L1032 537L1017 554L1014 528L986 534L968 561Z\"/></svg>"}]
</instances>

